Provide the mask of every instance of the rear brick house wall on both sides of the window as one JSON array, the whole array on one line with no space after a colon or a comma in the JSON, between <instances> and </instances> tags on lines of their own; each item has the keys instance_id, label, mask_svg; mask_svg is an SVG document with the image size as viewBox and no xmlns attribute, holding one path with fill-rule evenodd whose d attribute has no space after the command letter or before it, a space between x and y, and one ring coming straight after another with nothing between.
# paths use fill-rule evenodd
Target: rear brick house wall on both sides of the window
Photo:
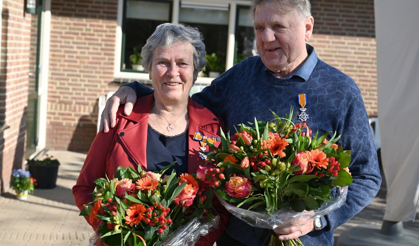
<instances>
[{"instance_id":1,"label":"rear brick house wall on both sides of the window","mask_svg":"<svg viewBox=\"0 0 419 246\"><path fill-rule=\"evenodd\" d=\"M98 96L118 87L113 83L118 1L98 2L52 2L47 147L88 151L96 134ZM368 114L376 114L373 0L311 3L310 44L323 61L356 81Z\"/></svg>"}]
</instances>

